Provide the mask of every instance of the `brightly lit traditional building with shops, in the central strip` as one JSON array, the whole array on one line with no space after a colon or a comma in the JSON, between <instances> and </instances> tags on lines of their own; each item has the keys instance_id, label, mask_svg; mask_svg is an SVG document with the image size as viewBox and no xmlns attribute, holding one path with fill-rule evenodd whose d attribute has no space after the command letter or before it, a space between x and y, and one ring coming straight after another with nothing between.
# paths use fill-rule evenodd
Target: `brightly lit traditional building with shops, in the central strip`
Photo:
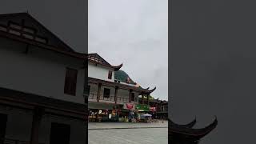
<instances>
[{"instance_id":1,"label":"brightly lit traditional building with shops, in the central strip","mask_svg":"<svg viewBox=\"0 0 256 144\"><path fill-rule=\"evenodd\" d=\"M156 88L144 89L118 66L98 54L88 54L88 108L90 121L126 121L130 111L149 106L149 95ZM146 100L138 104L138 96Z\"/></svg>"}]
</instances>

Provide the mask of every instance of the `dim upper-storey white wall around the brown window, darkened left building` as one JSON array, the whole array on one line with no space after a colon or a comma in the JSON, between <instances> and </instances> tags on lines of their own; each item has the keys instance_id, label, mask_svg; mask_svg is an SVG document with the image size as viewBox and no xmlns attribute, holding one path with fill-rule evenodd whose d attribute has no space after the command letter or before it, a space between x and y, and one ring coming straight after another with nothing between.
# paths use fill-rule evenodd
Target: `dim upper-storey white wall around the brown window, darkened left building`
<instances>
[{"instance_id":1,"label":"dim upper-storey white wall around the brown window, darkened left building","mask_svg":"<svg viewBox=\"0 0 256 144\"><path fill-rule=\"evenodd\" d=\"M33 46L31 46L33 47ZM83 103L84 69L78 58L0 38L0 87ZM66 67L78 70L76 96L64 94Z\"/></svg>"}]
</instances>

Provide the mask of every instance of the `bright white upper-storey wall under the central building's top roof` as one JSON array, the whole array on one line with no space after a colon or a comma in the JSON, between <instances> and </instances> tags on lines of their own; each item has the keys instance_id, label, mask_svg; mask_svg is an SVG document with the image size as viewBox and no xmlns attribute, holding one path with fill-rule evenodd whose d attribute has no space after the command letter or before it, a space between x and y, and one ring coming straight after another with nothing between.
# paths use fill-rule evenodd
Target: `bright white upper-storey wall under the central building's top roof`
<instances>
[{"instance_id":1,"label":"bright white upper-storey wall under the central building's top roof","mask_svg":"<svg viewBox=\"0 0 256 144\"><path fill-rule=\"evenodd\" d=\"M109 70L112 71L112 78L109 79L108 75L109 75ZM102 79L105 81L110 81L110 82L114 82L114 69L110 69L104 66L100 66L100 65L95 65L93 63L88 64L88 77L90 78L98 78L98 79Z\"/></svg>"}]
</instances>

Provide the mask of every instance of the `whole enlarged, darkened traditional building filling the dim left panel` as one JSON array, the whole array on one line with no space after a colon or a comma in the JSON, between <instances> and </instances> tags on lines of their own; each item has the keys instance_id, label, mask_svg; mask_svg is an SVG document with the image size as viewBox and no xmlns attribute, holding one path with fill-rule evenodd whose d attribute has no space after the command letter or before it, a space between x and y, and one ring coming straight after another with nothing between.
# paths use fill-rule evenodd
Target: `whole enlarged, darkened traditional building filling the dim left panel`
<instances>
[{"instance_id":1,"label":"whole enlarged, darkened traditional building filling the dim left panel","mask_svg":"<svg viewBox=\"0 0 256 144\"><path fill-rule=\"evenodd\" d=\"M30 14L1 14L0 143L86 143L86 61Z\"/></svg>"}]
</instances>

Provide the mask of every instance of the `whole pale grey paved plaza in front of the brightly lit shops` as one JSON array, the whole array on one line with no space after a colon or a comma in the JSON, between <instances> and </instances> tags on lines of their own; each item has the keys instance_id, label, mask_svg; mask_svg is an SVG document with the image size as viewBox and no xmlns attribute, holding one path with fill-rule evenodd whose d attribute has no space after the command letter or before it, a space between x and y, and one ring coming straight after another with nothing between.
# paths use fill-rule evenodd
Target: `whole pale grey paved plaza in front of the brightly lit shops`
<instances>
[{"instance_id":1,"label":"whole pale grey paved plaza in front of the brightly lit shops","mask_svg":"<svg viewBox=\"0 0 256 144\"><path fill-rule=\"evenodd\" d=\"M168 122L89 122L89 144L168 143Z\"/></svg>"}]
</instances>

